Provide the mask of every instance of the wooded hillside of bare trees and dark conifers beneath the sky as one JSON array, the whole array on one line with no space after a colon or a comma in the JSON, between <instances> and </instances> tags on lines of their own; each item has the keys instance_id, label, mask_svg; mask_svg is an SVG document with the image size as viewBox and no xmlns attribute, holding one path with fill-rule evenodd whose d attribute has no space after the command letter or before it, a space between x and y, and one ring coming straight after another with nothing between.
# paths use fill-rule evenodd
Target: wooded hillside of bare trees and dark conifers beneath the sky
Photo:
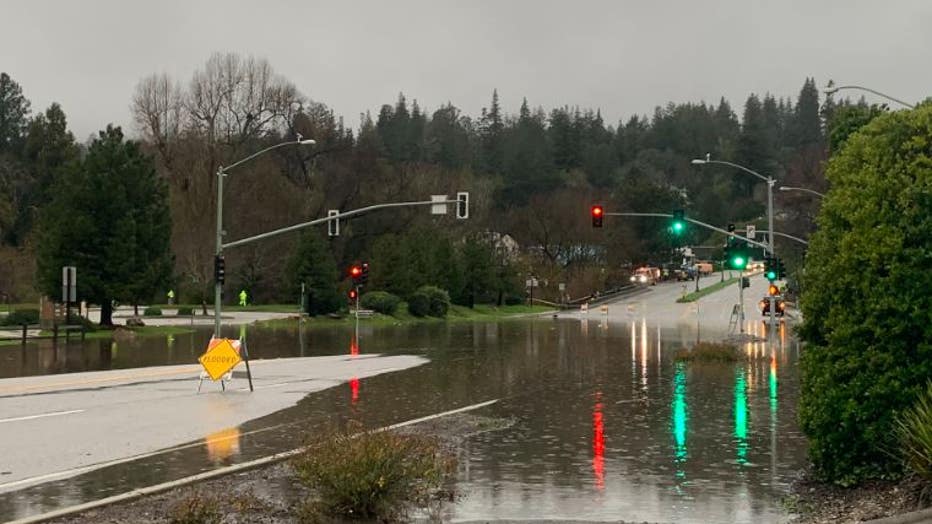
<instances>
[{"instance_id":1,"label":"wooded hillside of bare trees and dark conifers beneath the sky","mask_svg":"<svg viewBox=\"0 0 932 524\"><path fill-rule=\"evenodd\" d=\"M15 280L22 295L27 293L23 282L34 279L28 267L40 238L36 217L51 201L64 166L86 154L88 146L75 143L58 105L32 116L18 84L4 74L2 86L0 235L3 249L20 257L15 275L5 278ZM449 290L454 298L502 301L505 294L520 294L531 273L548 284L541 296L557 298L558 282L567 284L569 295L581 296L617 283L627 264L671 258L661 222L612 218L603 230L593 230L587 210L596 201L610 210L684 208L715 224L761 219L763 188L728 169L690 165L705 153L773 174L781 184L824 189L824 122L827 111L835 109L820 108L814 79L804 81L795 100L749 95L741 118L721 99L711 105L670 103L650 117L632 116L617 125L606 124L598 109L545 111L527 100L508 114L496 91L476 117L452 103L427 110L399 95L374 116L364 113L354 130L266 60L230 53L211 56L184 82L167 75L142 79L130 105L139 150L154 162L168 195L170 220L162 224L171 228L166 251L174 257L173 270L153 287L171 286L194 302L211 296L217 167L298 134L317 145L279 148L229 173L227 241L320 217L328 209L468 190L470 220L400 209L346 221L339 237L321 241L337 266L338 281L352 261L369 260L373 284L402 296L421 283L459 288L456 279L439 272L431 274L443 282L404 276L417 266L394 262L404 258L398 246L416 251L413 244L428 238L419 232L430 230L433 245L448 246L463 260L497 261L494 271L477 270L471 277L481 282L463 284L474 291ZM787 217L781 229L807 235L815 204L779 196L781 216ZM691 235L694 244L716 243L704 232ZM521 247L520 256L503 260L505 238ZM466 245L483 246L485 254L466 256ZM300 278L289 268L295 267L292 258L299 249L295 234L230 250L228 282L260 301L291 301Z\"/></svg>"}]
</instances>

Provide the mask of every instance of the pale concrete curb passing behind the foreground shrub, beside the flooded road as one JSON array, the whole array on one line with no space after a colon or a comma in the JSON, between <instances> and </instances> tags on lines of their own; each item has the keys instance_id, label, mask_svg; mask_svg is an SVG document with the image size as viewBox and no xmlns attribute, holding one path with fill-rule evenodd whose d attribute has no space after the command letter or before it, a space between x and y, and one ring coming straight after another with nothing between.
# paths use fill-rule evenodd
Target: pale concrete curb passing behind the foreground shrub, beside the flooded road
<instances>
[{"instance_id":1,"label":"pale concrete curb passing behind the foreground shrub, beside the flooded road","mask_svg":"<svg viewBox=\"0 0 932 524\"><path fill-rule=\"evenodd\" d=\"M469 406L464 406L464 407L457 408L457 409L451 409L449 411L443 411L441 413L434 413L433 415L427 415L425 417L419 417L419 418L415 418L411 420L406 420L404 422L399 422L397 424L384 426L375 431L391 431L391 430L403 428L406 426L412 426L420 422L426 422L428 420L442 418L442 417L446 417L449 415L455 415L458 413L465 413L467 411L473 411L476 409L484 408L486 406L495 404L496 402L498 402L498 400L499 399L487 400L485 402L480 402L478 404L471 404ZM31 517L24 517L24 518L17 519L17 520L7 521L6 524L34 524L38 522L47 522L52 519L68 517L70 515L75 515L77 513L83 513L91 509L102 508L105 506L118 504L120 502L128 502L128 501L135 500L135 499L147 496L147 495L155 495L157 493L169 491L174 488L180 488L183 486L187 486L189 484L194 484L195 482L200 482L202 480L210 480L216 477L230 475L232 473L237 473L237 472L244 471L247 469L255 469L255 468L266 466L268 464L272 464L275 462L281 462L283 460L287 460L291 457L299 455L303 453L304 451L307 451L307 449L308 449L307 446L302 446L300 448L283 451L281 453L275 453L274 455L268 455L268 456L258 458L255 460L250 460L248 462L233 464L231 466L226 466L226 467L215 469L212 471L205 471L204 473L198 473L197 475L191 475L189 477L184 477L184 478L177 479L177 480L163 482L161 484L155 484L153 486L146 486L144 488L134 489L131 491L127 491L126 493L120 493L119 495L113 495L110 497L93 500L91 502L85 502L83 504L78 504L75 506L69 506L67 508L61 508L61 509L57 509L54 511L49 511L46 513L42 513L40 515L33 515Z\"/></svg>"}]
</instances>

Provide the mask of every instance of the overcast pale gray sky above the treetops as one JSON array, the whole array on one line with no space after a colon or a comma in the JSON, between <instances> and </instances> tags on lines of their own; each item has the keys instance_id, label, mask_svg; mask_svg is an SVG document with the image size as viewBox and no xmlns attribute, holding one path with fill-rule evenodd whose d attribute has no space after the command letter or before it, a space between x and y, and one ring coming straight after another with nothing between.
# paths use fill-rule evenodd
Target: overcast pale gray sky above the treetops
<instances>
[{"instance_id":1,"label":"overcast pale gray sky above the treetops","mask_svg":"<svg viewBox=\"0 0 932 524\"><path fill-rule=\"evenodd\" d=\"M401 91L475 116L498 88L509 113L527 97L611 124L720 96L740 114L748 93L795 97L807 76L932 94L928 0L3 0L0 13L0 71L34 111L59 102L79 140L132 128L141 78L187 82L215 51L267 58L354 127Z\"/></svg>"}]
</instances>

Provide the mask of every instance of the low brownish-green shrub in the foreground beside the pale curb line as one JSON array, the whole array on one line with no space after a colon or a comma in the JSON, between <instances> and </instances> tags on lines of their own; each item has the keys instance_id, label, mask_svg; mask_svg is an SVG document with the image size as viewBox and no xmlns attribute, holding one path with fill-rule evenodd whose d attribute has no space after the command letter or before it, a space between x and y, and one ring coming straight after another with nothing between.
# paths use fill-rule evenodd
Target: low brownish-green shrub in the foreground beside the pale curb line
<instances>
[{"instance_id":1,"label":"low brownish-green shrub in the foreground beside the pale curb line","mask_svg":"<svg viewBox=\"0 0 932 524\"><path fill-rule=\"evenodd\" d=\"M321 512L392 519L427 502L453 464L435 439L379 431L324 438L299 456L294 468L316 492L312 505Z\"/></svg>"}]
</instances>

